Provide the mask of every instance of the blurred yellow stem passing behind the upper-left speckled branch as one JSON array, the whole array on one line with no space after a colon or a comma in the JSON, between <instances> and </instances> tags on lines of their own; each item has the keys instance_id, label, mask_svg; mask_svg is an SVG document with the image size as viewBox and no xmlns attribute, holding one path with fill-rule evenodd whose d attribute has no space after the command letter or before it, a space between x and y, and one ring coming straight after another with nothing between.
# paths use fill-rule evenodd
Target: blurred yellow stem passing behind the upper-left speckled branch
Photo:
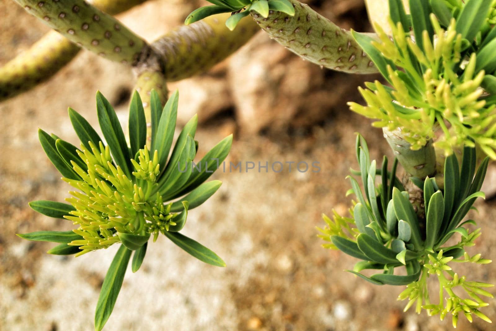
<instances>
[{"instance_id":1,"label":"blurred yellow stem passing behind the upper-left speckled branch","mask_svg":"<svg viewBox=\"0 0 496 331\"><path fill-rule=\"evenodd\" d=\"M97 8L117 14L145 0L93 0ZM50 31L31 48L0 67L0 102L50 79L79 52L76 44Z\"/></svg>"}]
</instances>

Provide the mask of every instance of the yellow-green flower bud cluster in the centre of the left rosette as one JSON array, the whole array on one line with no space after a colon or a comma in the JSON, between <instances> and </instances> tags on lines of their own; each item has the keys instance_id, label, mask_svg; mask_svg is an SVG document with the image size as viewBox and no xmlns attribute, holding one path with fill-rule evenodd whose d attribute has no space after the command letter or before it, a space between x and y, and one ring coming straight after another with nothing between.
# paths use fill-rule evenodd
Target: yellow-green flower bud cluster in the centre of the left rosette
<instances>
[{"instance_id":1,"label":"yellow-green flower bud cluster in the centre of the left rosette","mask_svg":"<svg viewBox=\"0 0 496 331\"><path fill-rule=\"evenodd\" d=\"M135 179L129 179L120 166L112 163L109 146L100 142L97 147L91 141L89 146L87 149L81 144L76 150L83 163L71 161L81 180L64 178L78 190L69 192L72 197L66 199L76 210L64 216L79 225L73 231L83 238L68 243L81 249L76 256L121 242L118 233L153 232L157 217L173 224L178 213L170 213L170 205L164 207L162 197L157 194L156 199L148 201L159 173L157 151L150 160L146 146L140 149L139 163L131 160ZM151 223L146 225L146 221Z\"/></svg>"}]
</instances>

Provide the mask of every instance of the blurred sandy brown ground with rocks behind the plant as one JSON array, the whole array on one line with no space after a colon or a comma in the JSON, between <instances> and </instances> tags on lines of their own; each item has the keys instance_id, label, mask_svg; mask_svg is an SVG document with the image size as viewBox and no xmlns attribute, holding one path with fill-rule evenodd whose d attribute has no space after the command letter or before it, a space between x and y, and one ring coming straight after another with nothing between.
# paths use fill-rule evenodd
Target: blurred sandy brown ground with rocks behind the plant
<instances>
[{"instance_id":1,"label":"blurred sandy brown ground with rocks behind the plant","mask_svg":"<svg viewBox=\"0 0 496 331\"><path fill-rule=\"evenodd\" d=\"M343 28L371 31L363 0L310 0ZM184 22L206 2L149 0L119 16L148 41ZM11 0L0 0L0 65L49 28ZM346 214L355 132L372 156L392 156L381 131L348 110L357 87L377 76L347 75L301 60L259 32L207 73L171 83L179 88L180 126L199 116L204 154L224 136L235 141L227 161L319 162L319 173L222 173L219 191L188 214L184 233L215 251L226 268L202 264L164 237L150 245L141 269L128 270L105 330L131 331L420 331L451 330L451 321L402 313L402 286L374 286L343 269L355 259L323 249L321 213ZM72 224L35 213L28 202L63 201L69 187L45 156L37 129L72 143L67 107L97 127L94 96L102 93L125 123L130 70L83 51L55 77L0 104L0 330L86 331L117 247L74 259L45 254L49 243L15 233L69 230ZM473 252L495 260L496 202L476 203L483 228ZM109 252L112 251L112 252ZM475 253L474 253L475 254ZM470 270L469 270L470 267ZM472 280L496 282L495 265L460 265ZM465 272L465 273L464 273ZM483 312L496 320L496 305ZM460 319L459 330L494 330Z\"/></svg>"}]
</instances>

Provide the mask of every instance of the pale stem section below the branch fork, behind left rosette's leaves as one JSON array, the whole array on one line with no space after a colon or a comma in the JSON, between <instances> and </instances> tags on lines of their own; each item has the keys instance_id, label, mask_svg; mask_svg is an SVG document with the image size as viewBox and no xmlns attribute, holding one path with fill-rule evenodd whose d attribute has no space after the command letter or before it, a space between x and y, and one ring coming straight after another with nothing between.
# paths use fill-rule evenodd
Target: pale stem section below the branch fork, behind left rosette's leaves
<instances>
[{"instance_id":1,"label":"pale stem section below the branch fork, behind left rosette's leaves","mask_svg":"<svg viewBox=\"0 0 496 331\"><path fill-rule=\"evenodd\" d=\"M138 75L134 88L136 91L138 91L139 96L141 97L141 102L143 103L143 108L145 110L146 142L148 147L150 147L152 132L150 95L152 89L154 89L160 97L162 106L164 106L169 94L169 91L167 90L166 79L164 74L160 71L143 71Z\"/></svg>"}]
</instances>

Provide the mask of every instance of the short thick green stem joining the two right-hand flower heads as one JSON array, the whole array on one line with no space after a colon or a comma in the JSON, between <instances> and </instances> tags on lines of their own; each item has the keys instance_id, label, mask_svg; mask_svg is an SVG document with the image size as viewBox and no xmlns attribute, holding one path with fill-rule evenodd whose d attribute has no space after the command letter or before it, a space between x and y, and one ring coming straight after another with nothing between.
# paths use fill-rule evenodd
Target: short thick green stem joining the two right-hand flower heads
<instances>
[{"instance_id":1,"label":"short thick green stem joining the two right-hand flower heads","mask_svg":"<svg viewBox=\"0 0 496 331\"><path fill-rule=\"evenodd\" d=\"M408 174L421 179L426 176L434 177L436 155L433 139L429 140L424 147L411 150L410 143L403 139L399 129L389 131L387 128L383 128L382 131L384 132L384 138L386 138L389 146L394 151L394 156L398 158L398 161Z\"/></svg>"}]
</instances>

